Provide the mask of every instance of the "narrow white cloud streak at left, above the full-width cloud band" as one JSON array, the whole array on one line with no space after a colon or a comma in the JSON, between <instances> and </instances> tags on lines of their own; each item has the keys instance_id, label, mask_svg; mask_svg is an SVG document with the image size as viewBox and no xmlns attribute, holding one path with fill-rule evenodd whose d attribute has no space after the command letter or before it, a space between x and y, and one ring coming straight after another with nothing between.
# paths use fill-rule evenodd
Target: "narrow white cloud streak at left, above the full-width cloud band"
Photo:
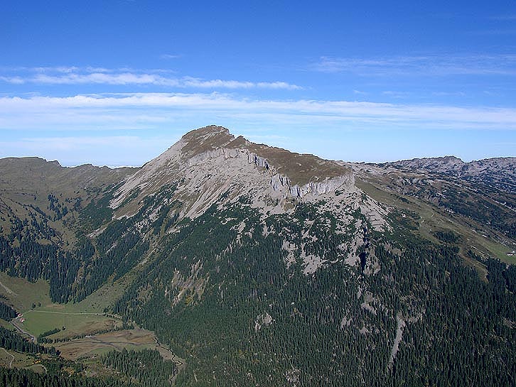
<instances>
[{"instance_id":1,"label":"narrow white cloud streak at left, above the full-width cloud band","mask_svg":"<svg viewBox=\"0 0 516 387\"><path fill-rule=\"evenodd\" d=\"M122 71L121 71L122 70ZM288 82L250 82L239 80L203 80L197 77L166 77L159 72L110 70L100 67L34 67L26 75L0 75L0 80L14 85L152 85L158 87L200 89L301 89Z\"/></svg>"}]
</instances>

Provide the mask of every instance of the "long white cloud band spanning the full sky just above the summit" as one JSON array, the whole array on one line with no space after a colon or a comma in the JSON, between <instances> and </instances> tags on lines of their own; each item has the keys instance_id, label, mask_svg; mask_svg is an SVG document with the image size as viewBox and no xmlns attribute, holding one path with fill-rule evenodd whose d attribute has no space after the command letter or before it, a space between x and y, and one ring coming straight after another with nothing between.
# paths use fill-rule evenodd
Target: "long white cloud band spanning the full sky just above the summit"
<instances>
[{"instance_id":1,"label":"long white cloud band spanning the full sky just above the summit","mask_svg":"<svg viewBox=\"0 0 516 387\"><path fill-rule=\"evenodd\" d=\"M339 124L349 128L504 129L516 109L306 100L238 99L228 94L100 94L1 97L0 129L146 129L178 117L241 119L264 125Z\"/></svg>"}]
</instances>

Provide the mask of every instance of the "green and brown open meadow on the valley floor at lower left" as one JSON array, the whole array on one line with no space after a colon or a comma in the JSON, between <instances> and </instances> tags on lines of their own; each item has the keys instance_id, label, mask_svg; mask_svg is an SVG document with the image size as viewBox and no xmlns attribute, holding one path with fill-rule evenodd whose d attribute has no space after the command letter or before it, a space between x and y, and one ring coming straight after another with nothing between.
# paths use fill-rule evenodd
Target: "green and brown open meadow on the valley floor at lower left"
<instances>
[{"instance_id":1,"label":"green and brown open meadow on the valley floor at lower left","mask_svg":"<svg viewBox=\"0 0 516 387\"><path fill-rule=\"evenodd\" d=\"M50 344L60 349L68 359L90 357L114 349L158 349L164 359L174 355L163 347L158 347L154 332L145 329L129 329L97 334L104 330L122 326L122 320L112 315L104 315L104 308L109 307L122 294L127 286L129 276L114 284L106 284L81 302L68 304L53 303L48 294L49 286L44 280L31 283L23 278L10 277L0 272L0 293L5 295L16 310L23 312L25 321L21 327L38 337L43 332L59 328L58 333L48 339L63 339L87 335L83 339ZM33 307L34 305L34 307ZM9 322L3 324L12 329Z\"/></svg>"}]
</instances>

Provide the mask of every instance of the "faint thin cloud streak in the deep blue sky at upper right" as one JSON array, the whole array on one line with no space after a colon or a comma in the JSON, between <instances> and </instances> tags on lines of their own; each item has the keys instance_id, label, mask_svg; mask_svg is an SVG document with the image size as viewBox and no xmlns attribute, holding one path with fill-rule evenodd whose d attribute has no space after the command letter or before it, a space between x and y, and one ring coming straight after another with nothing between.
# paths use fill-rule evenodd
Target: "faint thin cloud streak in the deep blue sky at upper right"
<instances>
[{"instance_id":1,"label":"faint thin cloud streak in the deep blue sky at upper right","mask_svg":"<svg viewBox=\"0 0 516 387\"><path fill-rule=\"evenodd\" d=\"M349 72L365 77L510 75L516 76L516 55L416 55L380 58L321 57L309 66L319 72Z\"/></svg>"}]
</instances>

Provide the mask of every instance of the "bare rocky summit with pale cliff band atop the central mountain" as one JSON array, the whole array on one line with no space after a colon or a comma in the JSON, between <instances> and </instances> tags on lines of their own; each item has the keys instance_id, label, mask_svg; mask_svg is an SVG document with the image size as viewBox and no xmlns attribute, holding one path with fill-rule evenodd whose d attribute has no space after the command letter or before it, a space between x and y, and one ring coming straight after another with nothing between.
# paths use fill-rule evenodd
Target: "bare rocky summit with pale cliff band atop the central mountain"
<instances>
[{"instance_id":1,"label":"bare rocky summit with pale cliff band atop the central mountain","mask_svg":"<svg viewBox=\"0 0 516 387\"><path fill-rule=\"evenodd\" d=\"M200 197L195 200L209 205L236 185L239 193L235 195L249 190L253 195L269 195L264 192L272 190L275 197L303 197L331 193L340 186L353 187L354 178L336 161L252 143L222 126L210 125L186 133L129 177L112 206L118 207L135 189L139 195L149 195L173 182L181 182L178 190L185 192L185 200L198 192Z\"/></svg>"}]
</instances>

